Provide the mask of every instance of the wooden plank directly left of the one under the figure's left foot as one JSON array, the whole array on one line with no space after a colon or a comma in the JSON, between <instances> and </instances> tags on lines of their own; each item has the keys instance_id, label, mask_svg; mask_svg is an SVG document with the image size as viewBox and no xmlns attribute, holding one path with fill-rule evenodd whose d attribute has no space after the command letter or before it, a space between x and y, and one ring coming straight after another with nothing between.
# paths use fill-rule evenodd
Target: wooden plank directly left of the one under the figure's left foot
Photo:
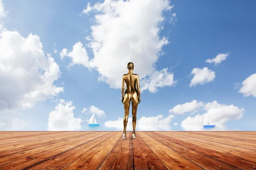
<instances>
[{"instance_id":1,"label":"wooden plank directly left of the one under the figure's left foot","mask_svg":"<svg viewBox=\"0 0 256 170\"><path fill-rule=\"evenodd\" d=\"M98 144L96 147L89 150L87 153L80 156L63 169L81 170L86 168L88 170L97 170L111 152L121 135L122 132L116 132L113 136Z\"/></svg>"}]
</instances>

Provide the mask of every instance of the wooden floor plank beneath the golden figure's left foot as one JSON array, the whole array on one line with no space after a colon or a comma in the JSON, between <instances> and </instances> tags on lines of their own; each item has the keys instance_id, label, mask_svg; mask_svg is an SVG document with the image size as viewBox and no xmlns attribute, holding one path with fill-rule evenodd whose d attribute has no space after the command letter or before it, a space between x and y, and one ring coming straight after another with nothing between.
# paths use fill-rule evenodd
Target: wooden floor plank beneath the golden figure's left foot
<instances>
[{"instance_id":1,"label":"wooden floor plank beneath the golden figure's left foot","mask_svg":"<svg viewBox=\"0 0 256 170\"><path fill-rule=\"evenodd\" d=\"M126 139L122 136L115 144L111 152L108 154L105 161L101 164L98 170L133 170L133 153L131 144L131 133L126 134Z\"/></svg>"}]
</instances>

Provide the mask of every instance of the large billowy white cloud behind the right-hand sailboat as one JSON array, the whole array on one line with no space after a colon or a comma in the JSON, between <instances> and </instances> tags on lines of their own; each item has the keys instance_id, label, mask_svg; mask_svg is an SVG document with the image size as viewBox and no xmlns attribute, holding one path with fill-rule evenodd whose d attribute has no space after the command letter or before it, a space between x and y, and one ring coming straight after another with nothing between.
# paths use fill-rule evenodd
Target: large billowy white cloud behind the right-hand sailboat
<instances>
[{"instance_id":1,"label":"large billowy white cloud behind the right-hand sailboat","mask_svg":"<svg viewBox=\"0 0 256 170\"><path fill-rule=\"evenodd\" d=\"M204 120L209 117L212 124L216 125L212 130L227 130L225 123L231 119L241 119L244 108L234 105L221 105L217 101L209 102L204 105L204 114L197 114L194 117L187 117L181 122L184 130L206 130L203 128Z\"/></svg>"}]
</instances>

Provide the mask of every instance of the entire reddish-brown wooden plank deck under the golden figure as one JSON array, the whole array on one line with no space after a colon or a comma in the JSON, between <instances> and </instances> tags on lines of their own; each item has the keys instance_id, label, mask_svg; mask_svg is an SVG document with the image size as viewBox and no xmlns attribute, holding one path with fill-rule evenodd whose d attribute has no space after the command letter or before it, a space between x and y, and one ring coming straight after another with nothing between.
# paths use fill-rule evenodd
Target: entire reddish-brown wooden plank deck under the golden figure
<instances>
[{"instance_id":1,"label":"entire reddish-brown wooden plank deck under the golden figure","mask_svg":"<svg viewBox=\"0 0 256 170\"><path fill-rule=\"evenodd\" d=\"M256 170L255 131L0 131L0 170Z\"/></svg>"}]
</instances>

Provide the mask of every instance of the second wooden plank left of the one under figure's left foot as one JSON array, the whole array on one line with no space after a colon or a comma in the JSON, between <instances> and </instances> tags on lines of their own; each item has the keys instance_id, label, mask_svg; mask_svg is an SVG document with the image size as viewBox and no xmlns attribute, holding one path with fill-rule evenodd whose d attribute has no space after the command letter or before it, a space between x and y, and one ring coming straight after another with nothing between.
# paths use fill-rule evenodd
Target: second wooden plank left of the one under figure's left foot
<instances>
[{"instance_id":1,"label":"second wooden plank left of the one under figure's left foot","mask_svg":"<svg viewBox=\"0 0 256 170\"><path fill-rule=\"evenodd\" d=\"M47 161L41 162L37 164L35 167L31 167L29 170L56 170L62 169L63 167L67 166L74 160L78 159L80 156L87 153L93 147L97 146L98 144L104 142L109 137L113 136L116 132L109 132L104 136L100 136L99 138L95 138L94 140L87 142L81 146L78 146L72 150L69 150L65 153L58 154L55 156L50 157ZM112 162L113 163L113 162Z\"/></svg>"}]
</instances>

